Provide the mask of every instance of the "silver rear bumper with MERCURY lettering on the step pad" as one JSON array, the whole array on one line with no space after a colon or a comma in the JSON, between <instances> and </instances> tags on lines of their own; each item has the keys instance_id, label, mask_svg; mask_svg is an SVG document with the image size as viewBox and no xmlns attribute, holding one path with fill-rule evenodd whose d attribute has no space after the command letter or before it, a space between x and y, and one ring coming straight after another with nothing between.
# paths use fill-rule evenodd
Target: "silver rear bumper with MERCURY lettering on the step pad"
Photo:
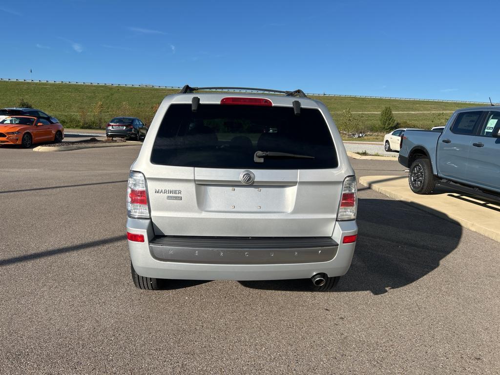
<instances>
[{"instance_id":1,"label":"silver rear bumper with MERCURY lettering on the step pad","mask_svg":"<svg viewBox=\"0 0 500 375\"><path fill-rule=\"evenodd\" d=\"M311 237L307 242L307 237L289 237L273 243L269 242L273 239L261 238L260 244L252 241L251 245L246 239L246 246L241 238L155 238L150 219L128 218L127 231L144 235L144 242L128 241L133 267L141 276L271 280L309 278L321 272L330 277L343 275L349 269L355 243L342 244L342 238L356 234L357 225L355 221L338 221L331 238Z\"/></svg>"}]
</instances>

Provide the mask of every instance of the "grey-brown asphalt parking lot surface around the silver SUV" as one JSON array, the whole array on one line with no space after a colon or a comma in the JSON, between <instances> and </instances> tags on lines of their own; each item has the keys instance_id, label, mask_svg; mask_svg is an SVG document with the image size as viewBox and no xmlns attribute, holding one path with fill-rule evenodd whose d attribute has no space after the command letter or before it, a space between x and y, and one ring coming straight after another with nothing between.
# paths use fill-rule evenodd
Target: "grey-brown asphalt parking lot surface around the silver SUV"
<instances>
[{"instance_id":1,"label":"grey-brown asphalt parking lot surface around the silver SUV","mask_svg":"<svg viewBox=\"0 0 500 375\"><path fill-rule=\"evenodd\" d=\"M0 148L1 373L498 373L500 243L361 185L334 292L136 289L124 233L138 150ZM351 162L357 176L404 174Z\"/></svg>"}]
</instances>

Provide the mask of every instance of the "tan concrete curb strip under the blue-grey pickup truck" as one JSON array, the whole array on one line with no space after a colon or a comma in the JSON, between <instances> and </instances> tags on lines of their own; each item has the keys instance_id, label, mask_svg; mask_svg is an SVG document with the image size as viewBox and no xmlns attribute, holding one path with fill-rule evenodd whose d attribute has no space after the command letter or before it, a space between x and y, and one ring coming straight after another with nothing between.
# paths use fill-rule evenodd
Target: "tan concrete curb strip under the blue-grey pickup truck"
<instances>
[{"instance_id":1,"label":"tan concrete curb strip under the blue-grey pickup truck","mask_svg":"<svg viewBox=\"0 0 500 375\"><path fill-rule=\"evenodd\" d=\"M500 242L500 227L498 227L500 212L494 208L488 208L487 203L476 198L462 198L462 194L449 191L440 194L418 195L410 190L406 181L406 176L384 175L359 178L360 184L387 195L389 198L407 202ZM498 205L500 206L500 204Z\"/></svg>"}]
</instances>

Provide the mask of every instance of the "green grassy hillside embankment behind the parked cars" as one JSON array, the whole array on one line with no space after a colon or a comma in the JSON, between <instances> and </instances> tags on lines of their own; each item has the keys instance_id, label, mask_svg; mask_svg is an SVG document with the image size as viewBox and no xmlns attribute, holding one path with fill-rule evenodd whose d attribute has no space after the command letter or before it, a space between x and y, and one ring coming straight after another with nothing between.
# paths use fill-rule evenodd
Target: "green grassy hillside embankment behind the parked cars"
<instances>
[{"instance_id":1,"label":"green grassy hillside embankment behind the parked cars","mask_svg":"<svg viewBox=\"0 0 500 375\"><path fill-rule=\"evenodd\" d=\"M111 117L117 115L135 116L150 123L156 106L165 95L173 92L177 92L177 89L0 81L0 108L14 106L22 98L33 107L57 117L65 127L102 127ZM327 105L337 124L342 111L350 108L354 118L368 131L376 129L378 112L385 106L391 107L400 126L430 128L447 118L451 111L476 105L352 96L311 97ZM444 115L433 112L444 112Z\"/></svg>"}]
</instances>

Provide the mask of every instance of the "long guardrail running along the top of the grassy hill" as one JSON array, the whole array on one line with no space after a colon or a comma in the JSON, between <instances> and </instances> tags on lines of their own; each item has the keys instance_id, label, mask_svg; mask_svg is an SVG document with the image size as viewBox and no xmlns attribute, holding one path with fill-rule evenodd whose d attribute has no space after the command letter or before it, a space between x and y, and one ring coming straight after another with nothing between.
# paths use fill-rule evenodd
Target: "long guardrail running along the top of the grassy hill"
<instances>
[{"instance_id":1,"label":"long guardrail running along the top of the grassy hill","mask_svg":"<svg viewBox=\"0 0 500 375\"><path fill-rule=\"evenodd\" d=\"M182 88L180 86L161 86L155 84L133 84L133 83L101 83L101 82L80 82L80 81L69 81L69 80L42 80L42 79L17 79L17 78L0 78L0 81L11 81L11 82L40 82L40 83L71 83L71 84L91 84L97 86L126 86L126 87L152 87L152 88ZM239 92L259 92L255 90L238 90ZM411 97L393 97L393 96L369 96L369 95L344 95L344 94L328 94L328 93L313 93L306 92L306 95L311 96L337 96L337 97L360 97L367 99L395 99L395 100L418 100L418 101L442 101L442 102L453 102L453 103L477 103L477 104L489 104L489 101L470 101L470 100L446 100L446 99L420 99ZM493 103L495 105L500 105L500 103Z\"/></svg>"}]
</instances>

